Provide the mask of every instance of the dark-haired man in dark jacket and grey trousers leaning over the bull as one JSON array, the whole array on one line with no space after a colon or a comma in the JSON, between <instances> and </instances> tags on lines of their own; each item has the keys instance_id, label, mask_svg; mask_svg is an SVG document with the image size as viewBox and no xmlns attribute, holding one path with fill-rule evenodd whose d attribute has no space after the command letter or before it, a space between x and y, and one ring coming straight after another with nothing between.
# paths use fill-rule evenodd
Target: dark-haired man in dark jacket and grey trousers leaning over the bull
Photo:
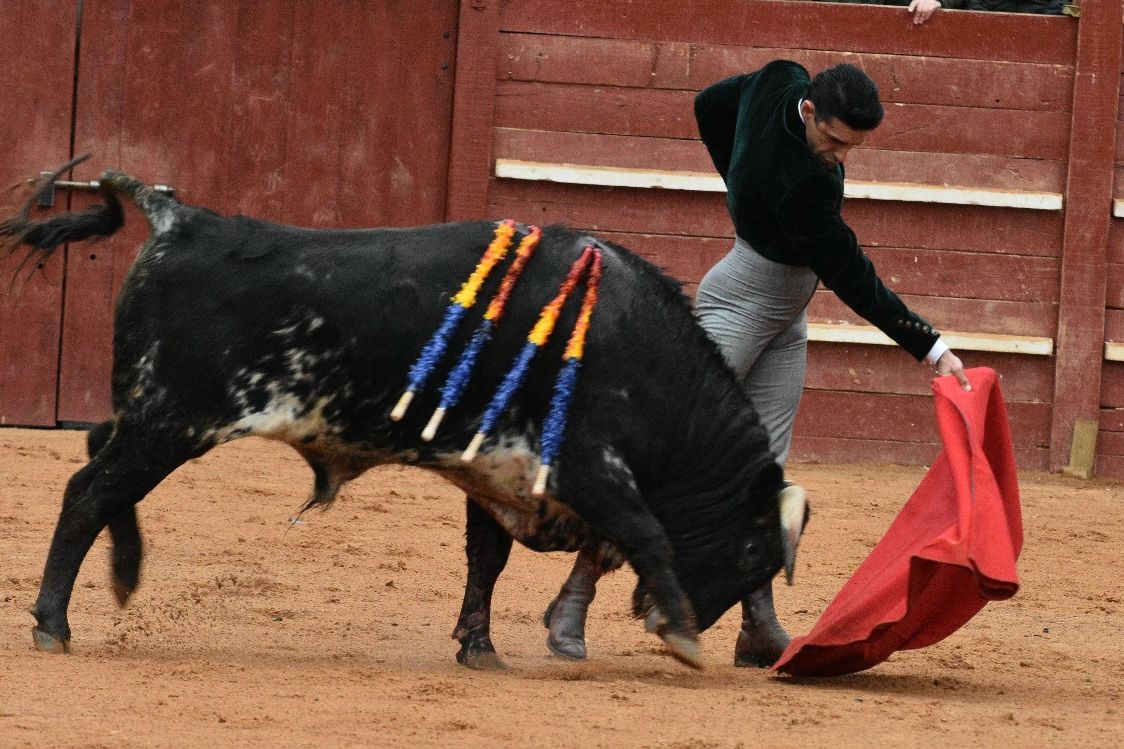
<instances>
[{"instance_id":1,"label":"dark-haired man in dark jacket and grey trousers leaning over the bull","mask_svg":"<svg viewBox=\"0 0 1124 749\"><path fill-rule=\"evenodd\" d=\"M874 82L858 67L835 65L812 80L785 60L719 81L695 100L736 234L699 285L699 322L749 392L782 466L804 388L805 309L819 282L915 359L971 389L960 359L886 288L840 213L843 162L882 114ZM544 617L553 652L584 657L586 612L602 572L597 559L579 554ZM735 662L772 665L789 637L771 585L742 603L742 619Z\"/></svg>"}]
</instances>

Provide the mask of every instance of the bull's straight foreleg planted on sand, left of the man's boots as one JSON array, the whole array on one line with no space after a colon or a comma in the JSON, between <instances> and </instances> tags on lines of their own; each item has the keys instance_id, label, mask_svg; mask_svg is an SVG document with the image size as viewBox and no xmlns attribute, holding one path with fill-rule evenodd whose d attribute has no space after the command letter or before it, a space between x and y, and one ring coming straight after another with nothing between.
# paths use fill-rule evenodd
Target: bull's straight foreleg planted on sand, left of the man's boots
<instances>
[{"instance_id":1,"label":"bull's straight foreleg planted on sand, left of the man's boots","mask_svg":"<svg viewBox=\"0 0 1124 749\"><path fill-rule=\"evenodd\" d=\"M511 553L511 536L471 497L466 509L464 553L469 577L461 616L453 631L453 638L461 642L456 661L469 668L501 669L504 661L491 643L491 596Z\"/></svg>"}]
</instances>

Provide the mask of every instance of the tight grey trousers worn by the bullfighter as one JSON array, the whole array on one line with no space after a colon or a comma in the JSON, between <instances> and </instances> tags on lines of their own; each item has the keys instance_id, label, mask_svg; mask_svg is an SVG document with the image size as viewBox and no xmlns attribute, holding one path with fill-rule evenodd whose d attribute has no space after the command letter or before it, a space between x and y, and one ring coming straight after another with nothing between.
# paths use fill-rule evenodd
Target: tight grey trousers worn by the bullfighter
<instances>
[{"instance_id":1,"label":"tight grey trousers worn by the bullfighter","mask_svg":"<svg viewBox=\"0 0 1124 749\"><path fill-rule=\"evenodd\" d=\"M696 294L699 322L750 396L781 466L804 390L805 309L817 282L810 269L768 260L737 237Z\"/></svg>"}]
</instances>

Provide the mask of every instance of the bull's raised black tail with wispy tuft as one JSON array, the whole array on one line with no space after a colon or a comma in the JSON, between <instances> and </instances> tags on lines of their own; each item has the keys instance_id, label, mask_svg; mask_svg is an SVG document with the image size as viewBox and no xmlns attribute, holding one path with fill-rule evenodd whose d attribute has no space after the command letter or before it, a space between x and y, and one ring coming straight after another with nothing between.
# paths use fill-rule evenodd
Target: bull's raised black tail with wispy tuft
<instances>
[{"instance_id":1,"label":"bull's raised black tail with wispy tuft","mask_svg":"<svg viewBox=\"0 0 1124 749\"><path fill-rule=\"evenodd\" d=\"M18 214L0 220L0 256L13 254L20 245L28 247L27 255L16 270L19 277L22 269L31 261L42 262L62 244L81 242L90 237L109 236L125 224L125 213L118 196L132 200L144 211L154 233L160 233L172 222L166 216L180 206L169 195L145 186L137 179L118 171L107 171L98 180L98 190L105 199L103 204L91 206L82 211L67 211L42 220L30 218L31 208L40 196L53 189L55 180L88 159L88 155L73 159L54 172L38 181L36 189Z\"/></svg>"}]
</instances>

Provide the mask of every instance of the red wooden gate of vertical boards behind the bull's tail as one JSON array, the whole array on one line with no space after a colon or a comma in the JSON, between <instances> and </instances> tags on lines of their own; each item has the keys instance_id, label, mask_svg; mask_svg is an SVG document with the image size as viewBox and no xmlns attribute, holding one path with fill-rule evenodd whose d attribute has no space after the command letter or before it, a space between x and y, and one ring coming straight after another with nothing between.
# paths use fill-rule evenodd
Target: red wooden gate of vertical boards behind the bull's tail
<instances>
[{"instance_id":1,"label":"red wooden gate of vertical boards behind the bull's tail","mask_svg":"<svg viewBox=\"0 0 1124 749\"><path fill-rule=\"evenodd\" d=\"M438 222L456 19L455 0L3 0L0 27L24 54L3 76L0 136L18 157L0 178L89 152L76 179L117 166L221 213L307 226ZM75 195L75 207L89 200ZM65 274L64 256L53 259L0 308L0 423L109 415L114 300L146 234L137 214L127 222L72 247Z\"/></svg>"}]
</instances>

